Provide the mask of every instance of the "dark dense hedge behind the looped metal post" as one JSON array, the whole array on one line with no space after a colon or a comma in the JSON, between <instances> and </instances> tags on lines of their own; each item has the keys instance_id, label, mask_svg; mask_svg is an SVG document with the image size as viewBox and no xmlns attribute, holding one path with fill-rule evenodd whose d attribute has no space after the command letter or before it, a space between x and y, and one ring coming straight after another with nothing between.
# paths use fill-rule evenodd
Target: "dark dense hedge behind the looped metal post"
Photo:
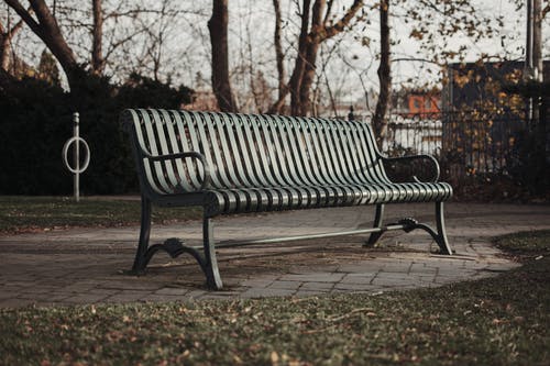
<instances>
[{"instance_id":1,"label":"dark dense hedge behind the looped metal post","mask_svg":"<svg viewBox=\"0 0 550 366\"><path fill-rule=\"evenodd\" d=\"M33 78L0 91L0 195L69 195L72 174L62 148L73 135L73 113L80 114L80 136L91 151L81 175L84 195L139 191L129 143L120 129L125 108L177 109L193 90L132 75L120 87L107 78L86 76L73 93Z\"/></svg>"}]
</instances>

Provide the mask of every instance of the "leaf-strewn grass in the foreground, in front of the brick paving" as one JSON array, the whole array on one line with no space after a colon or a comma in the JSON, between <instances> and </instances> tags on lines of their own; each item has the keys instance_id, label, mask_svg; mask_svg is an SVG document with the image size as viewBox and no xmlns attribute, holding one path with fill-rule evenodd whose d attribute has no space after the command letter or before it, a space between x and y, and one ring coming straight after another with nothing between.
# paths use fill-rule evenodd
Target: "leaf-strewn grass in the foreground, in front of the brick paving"
<instances>
[{"instance_id":1,"label":"leaf-strewn grass in the foreground, in front of the brick paving","mask_svg":"<svg viewBox=\"0 0 550 366\"><path fill-rule=\"evenodd\" d=\"M550 231L498 277L380 296L0 310L1 365L550 365Z\"/></svg>"}]
</instances>

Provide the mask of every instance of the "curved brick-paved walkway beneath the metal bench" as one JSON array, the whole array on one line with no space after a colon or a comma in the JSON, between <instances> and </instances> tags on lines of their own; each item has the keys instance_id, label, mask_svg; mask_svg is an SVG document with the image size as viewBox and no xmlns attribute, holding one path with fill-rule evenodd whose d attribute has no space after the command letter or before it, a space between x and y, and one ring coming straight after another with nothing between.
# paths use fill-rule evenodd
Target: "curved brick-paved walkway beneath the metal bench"
<instances>
[{"instance_id":1,"label":"curved brick-paved walkway beneath the metal bench","mask_svg":"<svg viewBox=\"0 0 550 366\"><path fill-rule=\"evenodd\" d=\"M391 206L388 218L431 221L431 204ZM447 206L454 256L436 248L422 231L388 233L380 248L366 236L309 240L219 251L223 291L208 291L190 257L160 254L146 276L132 265L139 228L75 229L0 237L0 307L96 302L312 296L436 287L493 276L517 266L491 245L491 236L550 229L549 206ZM339 208L216 220L218 239L298 235L371 225L374 209ZM393 221L388 219L387 222ZM200 237L200 223L153 226L152 242Z\"/></svg>"}]
</instances>

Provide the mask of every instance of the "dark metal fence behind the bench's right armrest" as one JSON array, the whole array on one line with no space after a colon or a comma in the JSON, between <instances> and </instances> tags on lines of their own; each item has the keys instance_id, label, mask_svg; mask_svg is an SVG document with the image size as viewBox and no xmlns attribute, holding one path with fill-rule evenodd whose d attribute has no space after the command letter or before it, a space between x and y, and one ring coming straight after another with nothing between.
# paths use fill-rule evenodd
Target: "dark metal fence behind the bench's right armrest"
<instances>
[{"instance_id":1,"label":"dark metal fence behind the bench's right armrest","mask_svg":"<svg viewBox=\"0 0 550 366\"><path fill-rule=\"evenodd\" d=\"M507 174L524 130L522 119L513 114L393 114L382 149L388 155L435 155L453 166L453 174Z\"/></svg>"}]
</instances>

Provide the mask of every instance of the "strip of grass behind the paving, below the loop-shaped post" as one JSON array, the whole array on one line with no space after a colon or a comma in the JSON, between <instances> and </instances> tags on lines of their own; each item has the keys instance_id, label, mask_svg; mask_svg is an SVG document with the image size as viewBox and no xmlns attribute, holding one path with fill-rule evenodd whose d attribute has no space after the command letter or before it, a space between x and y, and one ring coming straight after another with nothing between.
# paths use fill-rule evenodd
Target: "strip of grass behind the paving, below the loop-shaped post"
<instances>
[{"instance_id":1,"label":"strip of grass behind the paving, below the loop-shaped post","mask_svg":"<svg viewBox=\"0 0 550 366\"><path fill-rule=\"evenodd\" d=\"M140 201L67 197L0 196L0 234L64 229L119 226L140 223ZM155 209L153 222L201 217L200 208Z\"/></svg>"}]
</instances>

